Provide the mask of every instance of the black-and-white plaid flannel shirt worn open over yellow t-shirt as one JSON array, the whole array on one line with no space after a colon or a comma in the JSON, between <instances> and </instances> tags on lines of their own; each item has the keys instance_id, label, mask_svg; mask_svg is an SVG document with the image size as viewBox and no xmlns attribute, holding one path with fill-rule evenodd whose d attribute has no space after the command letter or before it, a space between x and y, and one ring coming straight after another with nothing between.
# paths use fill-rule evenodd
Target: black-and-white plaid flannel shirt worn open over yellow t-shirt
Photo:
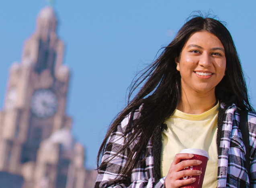
<instances>
[{"instance_id":1,"label":"black-and-white plaid flannel shirt worn open over yellow t-shirt","mask_svg":"<svg viewBox=\"0 0 256 188\"><path fill-rule=\"evenodd\" d=\"M225 104L221 103L221 108L224 107ZM129 122L129 117L130 114L123 119L121 124L117 127L117 131L112 133L107 142L102 161L108 159L109 161L104 169L101 168L99 170L95 188L164 188L166 177L160 180L155 180L153 177L154 156L152 156L151 153L151 141L149 141L146 148L150 151L147 159L143 163L139 163L137 168L133 169L131 177L129 178L129 184L113 181L113 179L117 178L120 168L124 166L127 159L126 154L119 154L114 158L111 156L119 151L126 139L129 139L129 133L127 135L123 134ZM138 117L139 110L135 111L133 119ZM247 170L244 166L246 149L238 125L239 113L236 105L233 104L225 111L221 131L217 174L218 188L239 188L241 180L246 182L246 187L256 188L256 114L253 112L248 113L251 165L250 186ZM141 159L143 159L143 157L142 155Z\"/></svg>"}]
</instances>

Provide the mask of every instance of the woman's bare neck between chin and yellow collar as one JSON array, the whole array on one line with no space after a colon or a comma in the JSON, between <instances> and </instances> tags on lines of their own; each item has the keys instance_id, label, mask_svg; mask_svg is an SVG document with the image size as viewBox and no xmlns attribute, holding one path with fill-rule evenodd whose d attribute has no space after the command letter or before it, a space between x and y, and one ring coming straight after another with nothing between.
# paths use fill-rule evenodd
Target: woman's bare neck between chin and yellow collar
<instances>
[{"instance_id":1,"label":"woman's bare neck between chin and yellow collar","mask_svg":"<svg viewBox=\"0 0 256 188\"><path fill-rule=\"evenodd\" d=\"M198 93L181 90L177 109L187 114L202 114L216 105L215 89Z\"/></svg>"}]
</instances>

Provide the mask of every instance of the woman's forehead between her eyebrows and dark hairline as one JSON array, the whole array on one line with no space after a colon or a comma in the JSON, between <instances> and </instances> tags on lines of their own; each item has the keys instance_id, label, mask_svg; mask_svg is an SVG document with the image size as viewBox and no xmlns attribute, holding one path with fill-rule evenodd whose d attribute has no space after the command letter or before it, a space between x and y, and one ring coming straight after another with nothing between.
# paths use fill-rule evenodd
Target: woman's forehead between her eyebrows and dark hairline
<instances>
[{"instance_id":1,"label":"woman's forehead between her eyebrows and dark hairline","mask_svg":"<svg viewBox=\"0 0 256 188\"><path fill-rule=\"evenodd\" d=\"M209 33L207 31L195 32L186 41L184 48L188 47L191 44L199 45L201 47L223 47L221 41L216 35Z\"/></svg>"}]
</instances>

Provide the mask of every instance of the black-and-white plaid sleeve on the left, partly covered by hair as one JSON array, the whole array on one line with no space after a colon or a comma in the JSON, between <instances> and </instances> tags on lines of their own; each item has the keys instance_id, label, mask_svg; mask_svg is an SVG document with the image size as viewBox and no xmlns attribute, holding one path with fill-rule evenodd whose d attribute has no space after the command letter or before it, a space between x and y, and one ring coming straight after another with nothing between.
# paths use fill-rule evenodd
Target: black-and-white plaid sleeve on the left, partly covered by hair
<instances>
[{"instance_id":1,"label":"black-and-white plaid sleeve on the left, partly covered by hair","mask_svg":"<svg viewBox=\"0 0 256 188\"><path fill-rule=\"evenodd\" d=\"M104 167L99 170L98 177L94 188L164 188L165 178L161 178L155 181L152 171L149 169L153 168L153 157L147 157L143 164L138 164L133 169L131 177L128 181L114 180L118 177L121 168L125 166L127 159L127 152L119 153L119 150L124 145L124 139L129 139L129 133L124 137L124 131L127 127L129 116L121 122L117 127L117 131L111 134L109 137L105 152L102 156L102 161L107 161ZM118 153L118 154L117 154ZM115 154L117 154L115 156ZM151 155L151 154L150 154ZM114 157L115 156L115 157ZM141 156L141 159L143 156ZM128 182L128 183L127 183Z\"/></svg>"}]
</instances>

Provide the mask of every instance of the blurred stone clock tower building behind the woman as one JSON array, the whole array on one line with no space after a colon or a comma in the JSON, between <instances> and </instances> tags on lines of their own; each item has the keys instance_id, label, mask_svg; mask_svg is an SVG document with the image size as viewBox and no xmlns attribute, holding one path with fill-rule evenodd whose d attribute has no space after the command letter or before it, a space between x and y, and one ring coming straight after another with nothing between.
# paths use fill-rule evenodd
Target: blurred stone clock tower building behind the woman
<instances>
[{"instance_id":1,"label":"blurred stone clock tower building behind the woman","mask_svg":"<svg viewBox=\"0 0 256 188\"><path fill-rule=\"evenodd\" d=\"M0 112L1 188L92 188L96 171L84 168L84 147L65 114L70 70L51 7L39 12L20 63L10 68Z\"/></svg>"}]
</instances>

